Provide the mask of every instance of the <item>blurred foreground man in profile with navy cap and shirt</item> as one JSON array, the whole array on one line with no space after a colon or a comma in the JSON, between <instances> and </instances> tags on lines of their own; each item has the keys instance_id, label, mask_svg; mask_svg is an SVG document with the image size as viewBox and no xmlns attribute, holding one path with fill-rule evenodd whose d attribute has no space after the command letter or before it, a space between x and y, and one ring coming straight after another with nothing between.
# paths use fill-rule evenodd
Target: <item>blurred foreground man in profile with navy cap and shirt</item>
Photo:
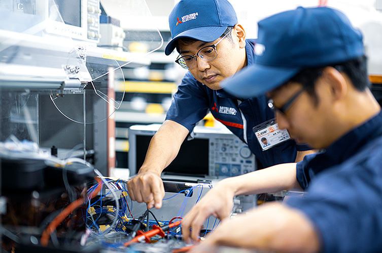
<instances>
[{"instance_id":1,"label":"blurred foreground man in profile with navy cap and shirt","mask_svg":"<svg viewBox=\"0 0 382 253\"><path fill-rule=\"evenodd\" d=\"M323 150L219 182L184 217L198 239L209 215L229 216L235 195L302 189L224 220L194 251L229 245L276 252L382 252L382 114L372 96L362 35L330 8L297 8L259 23L255 64L222 83L266 94L281 129ZM192 228L192 231L190 231Z\"/></svg>"}]
</instances>

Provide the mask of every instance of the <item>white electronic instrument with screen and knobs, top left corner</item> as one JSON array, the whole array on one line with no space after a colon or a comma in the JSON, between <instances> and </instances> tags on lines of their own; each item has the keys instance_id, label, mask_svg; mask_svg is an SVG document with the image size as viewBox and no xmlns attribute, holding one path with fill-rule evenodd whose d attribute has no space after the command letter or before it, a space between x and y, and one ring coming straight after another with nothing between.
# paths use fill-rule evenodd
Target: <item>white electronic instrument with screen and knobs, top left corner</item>
<instances>
[{"instance_id":1,"label":"white electronic instrument with screen and knobs, top left corner","mask_svg":"<svg viewBox=\"0 0 382 253\"><path fill-rule=\"evenodd\" d=\"M97 43L99 33L99 0L8 0L0 2L2 11L13 13L19 22L44 21L42 32ZM13 16L11 16L13 18ZM43 20L41 20L43 19Z\"/></svg>"}]
</instances>

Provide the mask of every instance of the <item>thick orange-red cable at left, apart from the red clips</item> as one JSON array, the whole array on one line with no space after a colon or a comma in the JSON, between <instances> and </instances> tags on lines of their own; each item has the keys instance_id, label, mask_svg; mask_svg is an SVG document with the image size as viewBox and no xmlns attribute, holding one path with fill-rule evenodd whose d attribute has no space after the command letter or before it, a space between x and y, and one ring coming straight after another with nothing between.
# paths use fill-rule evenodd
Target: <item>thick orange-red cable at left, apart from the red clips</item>
<instances>
[{"instance_id":1,"label":"thick orange-red cable at left, apart from the red clips","mask_svg":"<svg viewBox=\"0 0 382 253\"><path fill-rule=\"evenodd\" d=\"M93 191L93 193L89 196L89 198L93 198L98 194L98 192L101 190L101 179L96 177L95 180L98 182L97 188ZM48 225L48 227L44 230L43 235L41 236L41 245L47 246L49 237L53 233L54 230L60 225L60 223L68 216L70 215L74 209L79 207L84 203L84 198L79 198L75 201L73 201L70 205L66 206L62 212L56 216L56 218L53 219L53 221Z\"/></svg>"}]
</instances>

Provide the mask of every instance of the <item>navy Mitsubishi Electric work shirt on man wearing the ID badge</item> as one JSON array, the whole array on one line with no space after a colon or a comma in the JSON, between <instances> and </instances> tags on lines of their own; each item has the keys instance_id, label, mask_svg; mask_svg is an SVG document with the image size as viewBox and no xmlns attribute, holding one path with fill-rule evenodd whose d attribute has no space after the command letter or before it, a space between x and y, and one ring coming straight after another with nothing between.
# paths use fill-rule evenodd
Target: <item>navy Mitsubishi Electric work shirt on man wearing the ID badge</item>
<instances>
[{"instance_id":1,"label":"navy Mitsubishi Electric work shirt on man wearing the ID badge","mask_svg":"<svg viewBox=\"0 0 382 253\"><path fill-rule=\"evenodd\" d=\"M253 40L246 40L248 65L255 60ZM252 128L274 118L267 105L267 98L241 100L223 90L211 90L197 81L191 72L187 72L178 87L177 93L167 111L166 119L185 126L192 132L197 122L204 118L208 111L222 122L233 134L248 144L263 167L279 163L294 162L296 151L310 149L306 145L297 145L293 140L286 141L263 151Z\"/></svg>"}]
</instances>

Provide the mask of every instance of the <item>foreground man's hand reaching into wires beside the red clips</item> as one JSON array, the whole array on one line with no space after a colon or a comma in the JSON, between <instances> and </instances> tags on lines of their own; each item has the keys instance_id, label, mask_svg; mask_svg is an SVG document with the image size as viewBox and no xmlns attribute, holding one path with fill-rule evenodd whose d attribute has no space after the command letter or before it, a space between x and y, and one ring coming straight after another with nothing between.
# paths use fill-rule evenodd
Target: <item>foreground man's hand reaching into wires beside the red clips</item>
<instances>
[{"instance_id":1,"label":"foreground man's hand reaching into wires beside the red clips","mask_svg":"<svg viewBox=\"0 0 382 253\"><path fill-rule=\"evenodd\" d=\"M233 197L233 190L224 184L224 180L205 194L182 220L184 240L189 243L191 237L196 242L203 222L210 215L220 220L227 218L232 210Z\"/></svg>"}]
</instances>

